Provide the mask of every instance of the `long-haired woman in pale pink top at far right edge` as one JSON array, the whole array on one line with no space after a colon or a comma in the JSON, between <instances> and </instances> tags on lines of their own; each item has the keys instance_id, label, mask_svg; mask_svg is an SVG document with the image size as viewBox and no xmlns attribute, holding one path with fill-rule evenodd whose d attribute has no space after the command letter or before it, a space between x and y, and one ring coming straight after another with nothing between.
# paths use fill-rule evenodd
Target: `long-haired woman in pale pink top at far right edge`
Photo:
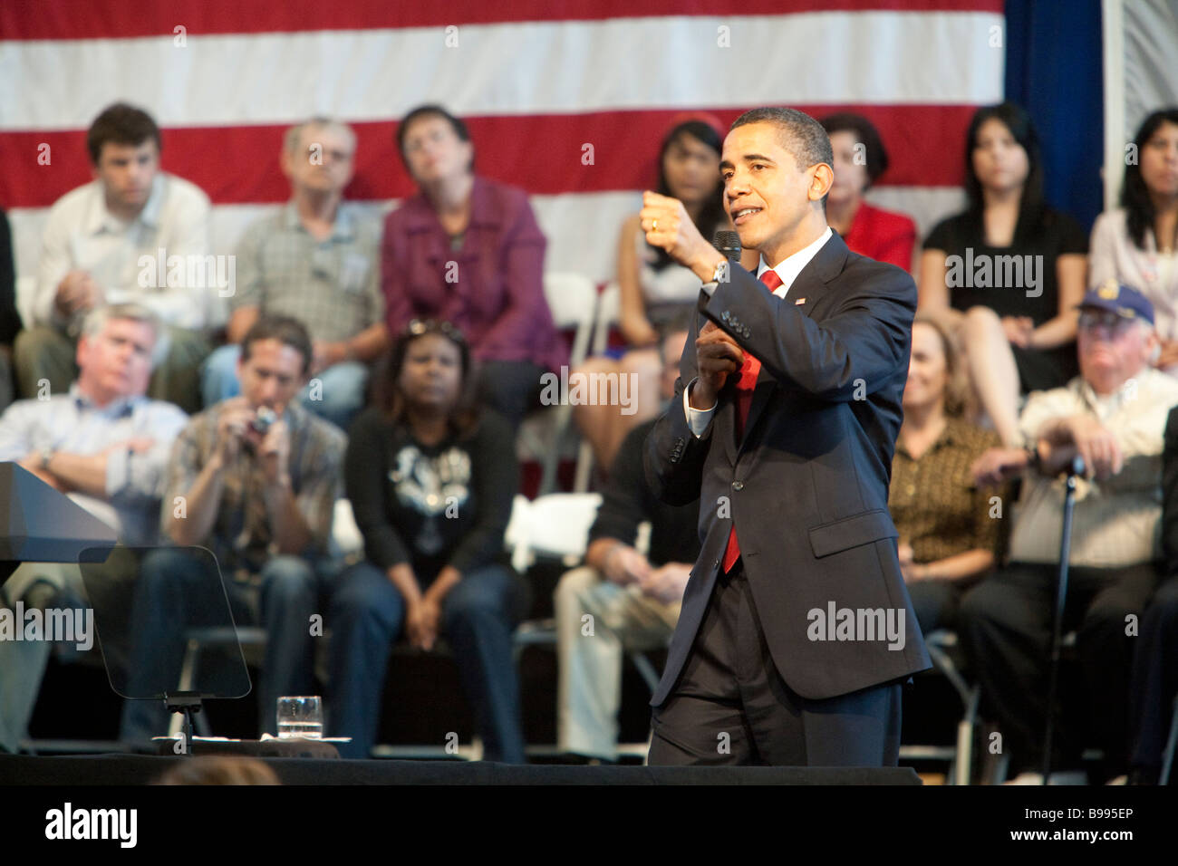
<instances>
[{"instance_id":1,"label":"long-haired woman in pale pink top at far right edge","mask_svg":"<svg viewBox=\"0 0 1178 866\"><path fill-rule=\"evenodd\" d=\"M1125 166L1120 207L1092 226L1088 285L1131 285L1153 303L1162 355L1178 375L1178 106L1145 118Z\"/></svg>"}]
</instances>

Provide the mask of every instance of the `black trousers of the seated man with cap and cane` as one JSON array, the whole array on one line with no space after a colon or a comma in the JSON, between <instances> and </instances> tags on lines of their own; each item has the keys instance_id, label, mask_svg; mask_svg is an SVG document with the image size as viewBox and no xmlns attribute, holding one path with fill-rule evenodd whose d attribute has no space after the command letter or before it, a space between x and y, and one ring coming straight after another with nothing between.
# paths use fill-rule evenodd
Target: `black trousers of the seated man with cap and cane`
<instances>
[{"instance_id":1,"label":"black trousers of the seated man with cap and cane","mask_svg":"<svg viewBox=\"0 0 1178 866\"><path fill-rule=\"evenodd\" d=\"M1043 761L1058 576L1054 564L1011 563L961 601L958 632L1014 769L1038 769ZM1108 776L1127 769L1129 676L1138 637L1126 634L1126 617L1140 622L1157 580L1153 563L1068 570L1064 630L1076 630L1087 725L1074 714L1057 718L1053 766L1078 766L1087 734L1104 749Z\"/></svg>"}]
</instances>

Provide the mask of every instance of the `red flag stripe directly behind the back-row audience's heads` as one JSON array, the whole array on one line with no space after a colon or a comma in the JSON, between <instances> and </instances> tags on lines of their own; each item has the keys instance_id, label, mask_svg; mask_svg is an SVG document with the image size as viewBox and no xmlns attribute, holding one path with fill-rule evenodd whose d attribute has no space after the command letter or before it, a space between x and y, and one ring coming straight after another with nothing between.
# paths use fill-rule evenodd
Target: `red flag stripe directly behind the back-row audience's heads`
<instances>
[{"instance_id":1,"label":"red flag stripe directly behind the back-row audience's heads","mask_svg":"<svg viewBox=\"0 0 1178 866\"><path fill-rule=\"evenodd\" d=\"M799 106L815 117L858 111L879 127L891 157L881 185L957 186L965 131L974 106ZM729 124L740 113L713 110ZM641 190L655 184L657 147L677 111L469 118L479 173L531 193ZM204 189L214 204L285 201L278 167L282 126L186 127L164 131L164 167ZM396 124L355 125L353 199L402 198L412 184L393 144ZM44 207L91 179L86 134L0 133L0 204ZM48 145L48 165L39 156ZM42 157L44 160L44 157Z\"/></svg>"}]
</instances>

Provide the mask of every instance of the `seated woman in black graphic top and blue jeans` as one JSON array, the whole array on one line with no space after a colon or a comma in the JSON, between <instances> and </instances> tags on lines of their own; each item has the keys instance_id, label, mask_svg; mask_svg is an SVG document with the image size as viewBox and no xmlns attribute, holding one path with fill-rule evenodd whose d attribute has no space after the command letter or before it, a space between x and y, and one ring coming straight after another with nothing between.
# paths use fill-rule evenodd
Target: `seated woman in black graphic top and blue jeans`
<instances>
[{"instance_id":1,"label":"seated woman in black graphic top and blue jeans","mask_svg":"<svg viewBox=\"0 0 1178 866\"><path fill-rule=\"evenodd\" d=\"M449 323L411 322L380 376L344 469L368 558L340 576L329 607L330 728L352 738L340 754L366 758L390 646L403 630L425 650L444 636L485 759L522 763L511 648L529 593L503 548L519 484L511 430L476 408L471 352Z\"/></svg>"}]
</instances>

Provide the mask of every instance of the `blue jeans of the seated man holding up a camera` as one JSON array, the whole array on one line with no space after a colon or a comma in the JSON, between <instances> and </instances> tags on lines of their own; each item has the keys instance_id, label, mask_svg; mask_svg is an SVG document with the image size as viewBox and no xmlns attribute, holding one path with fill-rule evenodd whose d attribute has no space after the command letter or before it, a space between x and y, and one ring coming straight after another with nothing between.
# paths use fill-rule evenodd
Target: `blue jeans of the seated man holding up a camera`
<instances>
[{"instance_id":1,"label":"blue jeans of the seated man holding up a camera","mask_svg":"<svg viewBox=\"0 0 1178 866\"><path fill-rule=\"evenodd\" d=\"M224 581L212 570L212 557L188 548L160 548L144 557L132 603L132 644L124 694L143 696L174 690L184 659L185 632L192 627L227 626L226 607L237 624L265 627L266 654L258 688L263 733L274 733L282 695L315 694L311 616L319 612L323 569L298 556L276 556L253 583ZM196 690L240 696L249 681L240 673L239 653L198 679ZM236 672L233 670L236 668ZM226 673L227 672L227 673ZM220 674L217 676L217 674ZM227 694L226 694L227 693ZM160 700L127 700L119 736L138 742L167 733L168 715Z\"/></svg>"}]
</instances>

